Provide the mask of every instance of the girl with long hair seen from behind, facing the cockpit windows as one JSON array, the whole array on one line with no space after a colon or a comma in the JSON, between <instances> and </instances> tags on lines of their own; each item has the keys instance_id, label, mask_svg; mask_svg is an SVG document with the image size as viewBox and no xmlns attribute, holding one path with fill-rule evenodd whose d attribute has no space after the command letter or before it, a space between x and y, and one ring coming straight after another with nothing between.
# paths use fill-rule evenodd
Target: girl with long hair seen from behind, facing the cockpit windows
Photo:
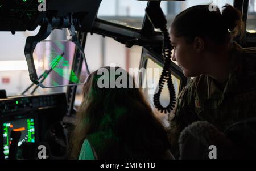
<instances>
[{"instance_id":1,"label":"girl with long hair seen from behind, facing the cockpit windows","mask_svg":"<svg viewBox=\"0 0 256 171\"><path fill-rule=\"evenodd\" d=\"M126 79L120 80L121 73ZM98 69L89 75L83 95L72 159L172 159L166 129L125 70Z\"/></svg>"}]
</instances>

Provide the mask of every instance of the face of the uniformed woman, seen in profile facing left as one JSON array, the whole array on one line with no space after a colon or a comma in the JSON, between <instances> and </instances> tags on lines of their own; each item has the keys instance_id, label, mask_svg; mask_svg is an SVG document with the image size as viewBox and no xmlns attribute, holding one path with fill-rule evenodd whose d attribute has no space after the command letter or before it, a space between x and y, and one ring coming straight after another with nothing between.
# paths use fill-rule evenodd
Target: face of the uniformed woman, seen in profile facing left
<instances>
[{"instance_id":1,"label":"face of the uniformed woman, seen in profile facing left","mask_svg":"<svg viewBox=\"0 0 256 171\"><path fill-rule=\"evenodd\" d=\"M194 43L188 43L185 37L176 37L171 31L171 45L174 47L172 61L177 61L177 64L183 70L186 77L200 75L199 54L197 54Z\"/></svg>"}]
</instances>

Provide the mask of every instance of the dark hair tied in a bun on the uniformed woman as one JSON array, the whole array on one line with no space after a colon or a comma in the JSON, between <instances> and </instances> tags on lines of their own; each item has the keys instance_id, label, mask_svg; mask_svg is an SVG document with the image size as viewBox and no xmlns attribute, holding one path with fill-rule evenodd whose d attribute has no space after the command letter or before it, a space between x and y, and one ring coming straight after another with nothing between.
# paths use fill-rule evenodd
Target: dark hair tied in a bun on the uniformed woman
<instances>
[{"instance_id":1,"label":"dark hair tied in a bun on the uniformed woman","mask_svg":"<svg viewBox=\"0 0 256 171\"><path fill-rule=\"evenodd\" d=\"M241 39L244 33L241 12L228 4L222 8L222 14L213 5L187 8L176 16L171 30L176 37L185 37L187 42L192 42L197 36L207 37L216 44L228 43L237 36Z\"/></svg>"}]
</instances>

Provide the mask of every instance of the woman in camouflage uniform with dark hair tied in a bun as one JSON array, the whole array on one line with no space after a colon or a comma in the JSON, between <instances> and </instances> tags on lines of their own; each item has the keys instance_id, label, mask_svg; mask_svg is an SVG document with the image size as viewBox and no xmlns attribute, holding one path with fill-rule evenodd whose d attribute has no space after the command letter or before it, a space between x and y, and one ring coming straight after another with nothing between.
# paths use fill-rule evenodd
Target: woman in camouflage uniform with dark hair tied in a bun
<instances>
[{"instance_id":1,"label":"woman in camouflage uniform with dark hair tied in a bun","mask_svg":"<svg viewBox=\"0 0 256 171\"><path fill-rule=\"evenodd\" d=\"M256 116L256 49L242 48L233 38L244 32L241 12L230 5L222 14L209 5L188 8L171 24L173 61L187 77L170 113L172 153L179 155L180 132L195 121L208 121L224 131Z\"/></svg>"}]
</instances>

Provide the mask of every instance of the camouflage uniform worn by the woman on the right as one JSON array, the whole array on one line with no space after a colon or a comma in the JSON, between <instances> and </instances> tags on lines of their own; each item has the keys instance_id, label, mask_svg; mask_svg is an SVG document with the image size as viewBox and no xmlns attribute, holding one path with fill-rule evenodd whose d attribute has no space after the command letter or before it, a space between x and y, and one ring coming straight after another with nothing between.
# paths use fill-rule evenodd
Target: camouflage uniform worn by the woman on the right
<instances>
[{"instance_id":1,"label":"camouflage uniform worn by the woman on the right","mask_svg":"<svg viewBox=\"0 0 256 171\"><path fill-rule=\"evenodd\" d=\"M200 75L177 97L168 116L175 157L180 132L192 122L208 121L224 131L232 123L256 116L256 48L242 48L236 42L230 48L230 73L222 88L209 75Z\"/></svg>"}]
</instances>

